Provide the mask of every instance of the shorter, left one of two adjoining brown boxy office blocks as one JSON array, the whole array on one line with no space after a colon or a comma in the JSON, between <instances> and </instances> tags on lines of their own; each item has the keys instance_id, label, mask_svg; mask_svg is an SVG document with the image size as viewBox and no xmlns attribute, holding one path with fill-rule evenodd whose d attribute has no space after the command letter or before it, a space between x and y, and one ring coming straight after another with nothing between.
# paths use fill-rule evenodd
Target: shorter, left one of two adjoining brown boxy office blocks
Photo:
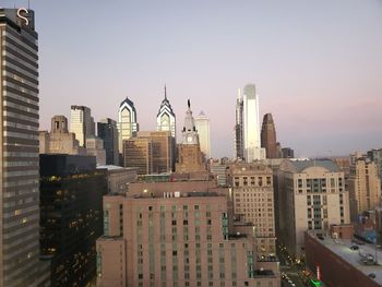
<instances>
[{"instance_id":1,"label":"shorter, left one of two adjoining brown boxy office blocks","mask_svg":"<svg viewBox=\"0 0 382 287\"><path fill-rule=\"evenodd\" d=\"M153 140L131 137L123 140L123 167L136 167L139 175L153 174Z\"/></svg>"}]
</instances>

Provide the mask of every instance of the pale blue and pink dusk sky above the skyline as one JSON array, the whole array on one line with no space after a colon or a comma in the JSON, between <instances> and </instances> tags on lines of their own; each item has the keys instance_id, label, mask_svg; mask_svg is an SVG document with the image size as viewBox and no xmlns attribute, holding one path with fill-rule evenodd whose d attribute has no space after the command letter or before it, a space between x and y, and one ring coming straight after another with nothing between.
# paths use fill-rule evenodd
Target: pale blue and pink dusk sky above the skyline
<instances>
[{"instance_id":1,"label":"pale blue and pink dusk sky above the skyline","mask_svg":"<svg viewBox=\"0 0 382 287\"><path fill-rule=\"evenodd\" d=\"M0 7L27 7L26 0ZM382 0L31 0L39 34L40 129L71 105L117 119L129 97L141 130L167 96L211 119L213 157L234 155L237 89L295 155L382 147ZM178 136L179 139L179 136Z\"/></svg>"}]
</instances>

